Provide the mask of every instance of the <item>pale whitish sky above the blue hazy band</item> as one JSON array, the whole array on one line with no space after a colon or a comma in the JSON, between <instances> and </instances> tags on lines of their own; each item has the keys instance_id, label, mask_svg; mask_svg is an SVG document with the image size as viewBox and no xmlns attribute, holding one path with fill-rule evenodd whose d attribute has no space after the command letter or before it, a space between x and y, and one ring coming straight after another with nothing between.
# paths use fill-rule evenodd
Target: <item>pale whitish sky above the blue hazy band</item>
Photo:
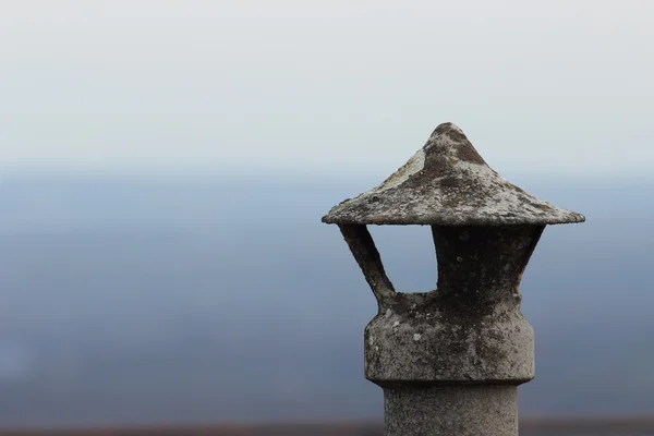
<instances>
[{"instance_id":1,"label":"pale whitish sky above the blue hazy band","mask_svg":"<svg viewBox=\"0 0 654 436\"><path fill-rule=\"evenodd\" d=\"M0 0L0 168L654 166L654 1Z\"/></svg>"}]
</instances>

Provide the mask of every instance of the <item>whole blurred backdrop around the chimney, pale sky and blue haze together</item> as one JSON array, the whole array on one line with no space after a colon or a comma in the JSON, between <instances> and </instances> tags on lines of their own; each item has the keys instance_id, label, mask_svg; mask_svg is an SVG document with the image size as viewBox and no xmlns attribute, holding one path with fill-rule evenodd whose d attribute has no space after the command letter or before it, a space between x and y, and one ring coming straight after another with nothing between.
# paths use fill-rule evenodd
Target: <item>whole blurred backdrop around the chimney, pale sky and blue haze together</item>
<instances>
[{"instance_id":1,"label":"whole blurred backdrop around the chimney, pale sky and blue haze together","mask_svg":"<svg viewBox=\"0 0 654 436\"><path fill-rule=\"evenodd\" d=\"M652 23L647 0L0 2L0 428L380 422L375 301L320 217L446 121L588 219L524 274L521 416L654 415ZM396 288L435 288L428 228L371 231Z\"/></svg>"}]
</instances>

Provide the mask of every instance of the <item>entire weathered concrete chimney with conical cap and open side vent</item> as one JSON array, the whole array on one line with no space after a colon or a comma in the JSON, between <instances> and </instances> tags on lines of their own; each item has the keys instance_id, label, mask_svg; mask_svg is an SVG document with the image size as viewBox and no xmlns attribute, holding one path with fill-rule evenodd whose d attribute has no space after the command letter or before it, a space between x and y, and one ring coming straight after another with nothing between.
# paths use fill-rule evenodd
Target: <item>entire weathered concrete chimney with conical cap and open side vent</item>
<instances>
[{"instance_id":1,"label":"entire weathered concrete chimney with conical cap and open side vent","mask_svg":"<svg viewBox=\"0 0 654 436\"><path fill-rule=\"evenodd\" d=\"M339 226L378 303L365 377L384 389L386 435L518 435L517 389L534 377L522 272L546 225L584 219L502 179L451 123L323 218ZM431 226L436 290L396 292L368 225Z\"/></svg>"}]
</instances>

